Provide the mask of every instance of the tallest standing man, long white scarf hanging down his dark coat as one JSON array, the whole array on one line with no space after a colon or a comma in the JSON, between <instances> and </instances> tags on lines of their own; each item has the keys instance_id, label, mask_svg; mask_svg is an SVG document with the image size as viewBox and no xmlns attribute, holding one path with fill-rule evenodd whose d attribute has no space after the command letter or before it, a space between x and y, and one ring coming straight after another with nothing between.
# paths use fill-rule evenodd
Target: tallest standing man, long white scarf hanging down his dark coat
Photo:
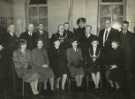
<instances>
[{"instance_id":1,"label":"tallest standing man, long white scarf hanging down his dark coat","mask_svg":"<svg viewBox=\"0 0 135 99\"><path fill-rule=\"evenodd\" d=\"M102 66L103 66L103 71L102 71L102 79L104 82L104 86L106 86L107 84L105 83L107 81L107 83L109 82L108 80L108 74L110 72L109 70L109 66L107 65L107 57L108 54L111 51L111 45L113 42L119 42L120 40L120 33L119 31L115 30L114 28L111 27L111 21L110 20L106 20L105 21L105 28L102 29L99 32L99 43L101 46L101 50L102 50L102 55L101 55L101 60L102 60Z\"/></svg>"}]
</instances>

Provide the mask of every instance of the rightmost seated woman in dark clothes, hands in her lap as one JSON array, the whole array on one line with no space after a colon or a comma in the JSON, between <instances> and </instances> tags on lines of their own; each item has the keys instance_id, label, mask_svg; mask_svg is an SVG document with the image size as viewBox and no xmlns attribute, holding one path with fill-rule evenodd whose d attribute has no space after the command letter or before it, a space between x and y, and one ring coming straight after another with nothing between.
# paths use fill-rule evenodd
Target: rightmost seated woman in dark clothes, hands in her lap
<instances>
[{"instance_id":1,"label":"rightmost seated woman in dark clothes, hands in her lap","mask_svg":"<svg viewBox=\"0 0 135 99\"><path fill-rule=\"evenodd\" d=\"M111 87L119 89L122 85L124 70L122 68L122 53L118 42L112 42L112 49L108 53L107 64L109 66L108 81Z\"/></svg>"}]
</instances>

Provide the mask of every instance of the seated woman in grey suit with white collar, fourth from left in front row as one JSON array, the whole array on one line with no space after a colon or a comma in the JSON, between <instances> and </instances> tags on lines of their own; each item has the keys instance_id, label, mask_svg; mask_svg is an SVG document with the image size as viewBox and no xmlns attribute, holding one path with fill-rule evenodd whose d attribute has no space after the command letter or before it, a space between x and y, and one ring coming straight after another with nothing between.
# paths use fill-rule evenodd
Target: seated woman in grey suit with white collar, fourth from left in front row
<instances>
[{"instance_id":1,"label":"seated woman in grey suit with white collar, fourth from left in front row","mask_svg":"<svg viewBox=\"0 0 135 99\"><path fill-rule=\"evenodd\" d=\"M75 77L76 86L81 87L84 77L82 51L78 48L78 42L72 40L72 48L67 49L68 68L71 76Z\"/></svg>"}]
</instances>

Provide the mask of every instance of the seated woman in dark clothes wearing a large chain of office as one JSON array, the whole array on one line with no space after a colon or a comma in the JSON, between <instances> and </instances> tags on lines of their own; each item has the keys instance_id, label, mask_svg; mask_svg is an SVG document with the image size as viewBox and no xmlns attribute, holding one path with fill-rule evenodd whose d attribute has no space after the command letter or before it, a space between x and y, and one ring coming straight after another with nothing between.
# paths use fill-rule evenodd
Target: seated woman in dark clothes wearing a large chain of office
<instances>
[{"instance_id":1,"label":"seated woman in dark clothes wearing a large chain of office","mask_svg":"<svg viewBox=\"0 0 135 99\"><path fill-rule=\"evenodd\" d=\"M100 82L100 47L98 40L93 40L89 47L87 58L87 71L91 74L95 88L99 88Z\"/></svg>"}]
</instances>

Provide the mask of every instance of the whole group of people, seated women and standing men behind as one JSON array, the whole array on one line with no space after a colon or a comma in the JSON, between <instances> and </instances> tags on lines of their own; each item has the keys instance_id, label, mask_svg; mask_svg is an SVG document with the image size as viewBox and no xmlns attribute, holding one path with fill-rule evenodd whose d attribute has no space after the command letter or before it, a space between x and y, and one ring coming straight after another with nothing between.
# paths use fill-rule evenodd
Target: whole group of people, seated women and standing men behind
<instances>
[{"instance_id":1,"label":"whole group of people, seated women and standing men behind","mask_svg":"<svg viewBox=\"0 0 135 99\"><path fill-rule=\"evenodd\" d=\"M1 78L5 81L17 74L30 84L34 95L39 94L39 82L44 83L44 90L48 81L51 90L65 90L70 77L78 88L85 76L92 79L96 89L104 80L116 89L127 88L125 85L129 88L135 56L135 36L128 31L129 22L123 21L118 31L111 27L110 20L105 20L99 35L91 32L92 26L86 25L85 18L79 18L77 25L71 31L68 22L59 24L51 38L43 24L37 30L29 24L19 37L15 35L15 25L9 25L7 33L0 36Z\"/></svg>"}]
</instances>

